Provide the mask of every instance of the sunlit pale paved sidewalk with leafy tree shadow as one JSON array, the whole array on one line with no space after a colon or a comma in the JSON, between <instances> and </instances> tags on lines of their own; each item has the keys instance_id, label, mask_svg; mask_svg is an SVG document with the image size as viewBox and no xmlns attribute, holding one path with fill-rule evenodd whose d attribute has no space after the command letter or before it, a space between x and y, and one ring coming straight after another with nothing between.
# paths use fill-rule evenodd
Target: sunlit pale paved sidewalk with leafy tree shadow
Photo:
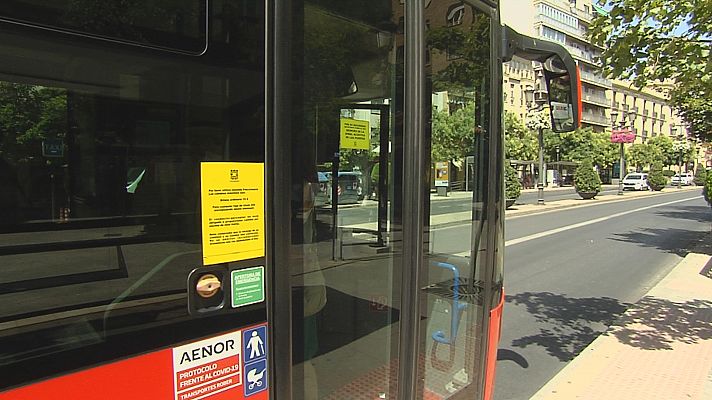
<instances>
[{"instance_id":1,"label":"sunlit pale paved sidewalk with leafy tree shadow","mask_svg":"<svg viewBox=\"0 0 712 400\"><path fill-rule=\"evenodd\" d=\"M532 400L712 399L712 233Z\"/></svg>"}]
</instances>

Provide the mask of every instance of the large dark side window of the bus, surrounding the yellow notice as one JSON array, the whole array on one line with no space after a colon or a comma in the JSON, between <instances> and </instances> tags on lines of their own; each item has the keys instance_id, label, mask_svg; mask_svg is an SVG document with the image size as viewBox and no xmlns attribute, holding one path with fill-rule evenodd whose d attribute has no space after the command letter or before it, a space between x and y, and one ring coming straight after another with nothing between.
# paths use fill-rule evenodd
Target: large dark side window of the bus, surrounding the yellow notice
<instances>
[{"instance_id":1,"label":"large dark side window of the bus, surrounding the yellow notice","mask_svg":"<svg viewBox=\"0 0 712 400\"><path fill-rule=\"evenodd\" d=\"M50 24L85 2L13 3L4 12ZM120 3L145 18L127 32L155 17ZM202 265L200 163L264 162L252 3L216 10L201 57L0 23L0 390L265 320L264 303L198 321L186 302ZM155 32L198 34L171 18Z\"/></svg>"}]
</instances>

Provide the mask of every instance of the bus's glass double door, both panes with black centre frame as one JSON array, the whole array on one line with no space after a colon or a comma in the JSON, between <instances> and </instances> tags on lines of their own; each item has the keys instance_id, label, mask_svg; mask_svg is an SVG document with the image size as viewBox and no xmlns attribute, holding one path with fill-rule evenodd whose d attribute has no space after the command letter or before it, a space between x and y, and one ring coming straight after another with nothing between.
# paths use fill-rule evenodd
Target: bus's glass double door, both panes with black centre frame
<instances>
[{"instance_id":1,"label":"bus's glass double door, both panes with black centre frame","mask_svg":"<svg viewBox=\"0 0 712 400\"><path fill-rule=\"evenodd\" d=\"M277 46L294 76L275 132L292 188L293 354L276 362L292 363L294 399L491 395L503 246L497 14L478 2L414 2L424 8L410 13L402 3L295 2ZM447 197L430 191L435 162L452 164ZM342 187L346 173L375 190L339 202L332 186L330 202L313 201L320 176Z\"/></svg>"}]
</instances>

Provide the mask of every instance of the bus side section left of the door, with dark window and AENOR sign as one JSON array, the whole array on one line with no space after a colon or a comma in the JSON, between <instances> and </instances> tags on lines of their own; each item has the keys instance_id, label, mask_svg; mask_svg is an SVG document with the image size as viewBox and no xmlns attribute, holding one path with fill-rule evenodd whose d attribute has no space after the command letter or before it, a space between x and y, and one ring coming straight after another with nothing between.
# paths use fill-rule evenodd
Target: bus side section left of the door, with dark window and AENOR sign
<instances>
[{"instance_id":1,"label":"bus side section left of the door, with dark window and AENOR sign","mask_svg":"<svg viewBox=\"0 0 712 400\"><path fill-rule=\"evenodd\" d=\"M269 398L263 8L0 11L0 397Z\"/></svg>"}]
</instances>

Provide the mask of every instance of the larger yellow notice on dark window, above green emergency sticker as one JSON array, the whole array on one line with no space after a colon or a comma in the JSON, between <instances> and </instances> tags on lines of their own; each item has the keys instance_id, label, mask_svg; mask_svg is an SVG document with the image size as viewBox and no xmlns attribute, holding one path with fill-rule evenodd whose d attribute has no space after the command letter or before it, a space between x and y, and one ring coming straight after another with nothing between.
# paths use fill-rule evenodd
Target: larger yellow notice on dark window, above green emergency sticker
<instances>
[{"instance_id":1,"label":"larger yellow notice on dark window, above green emergency sticker","mask_svg":"<svg viewBox=\"0 0 712 400\"><path fill-rule=\"evenodd\" d=\"M263 163L200 164L203 265L265 255Z\"/></svg>"}]
</instances>

